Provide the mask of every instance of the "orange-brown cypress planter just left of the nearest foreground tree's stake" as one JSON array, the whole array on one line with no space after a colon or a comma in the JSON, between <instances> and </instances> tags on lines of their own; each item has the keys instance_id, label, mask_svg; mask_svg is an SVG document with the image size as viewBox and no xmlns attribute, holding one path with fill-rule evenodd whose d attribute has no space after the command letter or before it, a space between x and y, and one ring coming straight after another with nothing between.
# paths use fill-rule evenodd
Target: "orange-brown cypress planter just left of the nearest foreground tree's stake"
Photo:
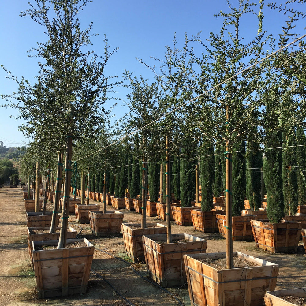
<instances>
[{"instance_id":1,"label":"orange-brown cypress planter just left of the nearest foreground tree's stake","mask_svg":"<svg viewBox=\"0 0 306 306\"><path fill-rule=\"evenodd\" d=\"M190 212L195 230L203 233L218 232L218 224L215 211L201 211L192 209Z\"/></svg>"}]
</instances>

